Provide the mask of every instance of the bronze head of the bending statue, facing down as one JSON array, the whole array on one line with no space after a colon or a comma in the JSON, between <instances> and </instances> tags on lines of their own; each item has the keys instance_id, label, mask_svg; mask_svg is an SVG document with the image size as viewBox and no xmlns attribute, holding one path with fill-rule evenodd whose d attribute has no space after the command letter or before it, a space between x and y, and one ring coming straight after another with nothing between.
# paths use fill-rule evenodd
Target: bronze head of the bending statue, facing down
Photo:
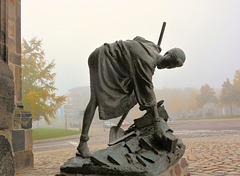
<instances>
[{"instance_id":1,"label":"bronze head of the bending statue, facing down","mask_svg":"<svg viewBox=\"0 0 240 176\"><path fill-rule=\"evenodd\" d=\"M185 53L180 48L173 48L159 57L158 69L181 67L186 60Z\"/></svg>"}]
</instances>

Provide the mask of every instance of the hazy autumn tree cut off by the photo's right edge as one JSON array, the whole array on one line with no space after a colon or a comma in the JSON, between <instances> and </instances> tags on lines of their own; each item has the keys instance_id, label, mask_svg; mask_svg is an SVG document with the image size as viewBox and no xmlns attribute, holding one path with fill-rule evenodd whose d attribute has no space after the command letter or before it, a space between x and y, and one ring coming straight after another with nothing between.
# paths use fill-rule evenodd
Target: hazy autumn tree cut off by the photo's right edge
<instances>
[{"instance_id":1,"label":"hazy autumn tree cut off by the photo's right edge","mask_svg":"<svg viewBox=\"0 0 240 176\"><path fill-rule=\"evenodd\" d=\"M233 78L233 91L235 104L240 105L240 70L237 70Z\"/></svg>"}]
</instances>

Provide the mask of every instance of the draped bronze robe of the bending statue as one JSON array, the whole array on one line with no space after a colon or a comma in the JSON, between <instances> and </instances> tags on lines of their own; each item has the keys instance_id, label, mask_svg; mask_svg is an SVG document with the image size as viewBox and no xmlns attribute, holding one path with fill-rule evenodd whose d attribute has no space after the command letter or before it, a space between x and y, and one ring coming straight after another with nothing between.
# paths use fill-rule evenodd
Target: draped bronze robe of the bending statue
<instances>
[{"instance_id":1,"label":"draped bronze robe of the bending statue","mask_svg":"<svg viewBox=\"0 0 240 176\"><path fill-rule=\"evenodd\" d=\"M152 76L160 47L141 37L105 43L88 59L91 96L96 96L99 118L127 113L137 103L140 110L156 105Z\"/></svg>"}]
</instances>

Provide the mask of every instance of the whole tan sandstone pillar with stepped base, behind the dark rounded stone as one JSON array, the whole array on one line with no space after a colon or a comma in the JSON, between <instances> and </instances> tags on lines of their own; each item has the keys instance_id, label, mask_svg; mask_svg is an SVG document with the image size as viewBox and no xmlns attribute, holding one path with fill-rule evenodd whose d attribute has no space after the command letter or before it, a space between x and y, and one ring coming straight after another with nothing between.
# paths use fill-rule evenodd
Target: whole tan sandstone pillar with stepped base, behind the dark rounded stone
<instances>
[{"instance_id":1,"label":"whole tan sandstone pillar with stepped base, behind the dark rounded stone","mask_svg":"<svg viewBox=\"0 0 240 176\"><path fill-rule=\"evenodd\" d=\"M7 63L11 70L15 108L13 117L0 114L0 122L5 126L6 138L11 140L9 142L13 146L15 169L23 169L33 167L33 142L31 114L24 111L22 106L21 0L0 0L0 10L1 65ZM3 86L2 89L6 91L8 88ZM0 107L7 104L0 101Z\"/></svg>"}]
</instances>

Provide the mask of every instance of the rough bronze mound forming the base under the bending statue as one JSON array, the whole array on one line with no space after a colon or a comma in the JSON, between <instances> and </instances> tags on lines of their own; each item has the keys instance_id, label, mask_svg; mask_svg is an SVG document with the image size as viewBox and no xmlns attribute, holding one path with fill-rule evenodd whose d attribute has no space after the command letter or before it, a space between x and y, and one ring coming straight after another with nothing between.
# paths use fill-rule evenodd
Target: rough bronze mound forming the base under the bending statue
<instances>
[{"instance_id":1,"label":"rough bronze mound forming the base under the bending statue","mask_svg":"<svg viewBox=\"0 0 240 176\"><path fill-rule=\"evenodd\" d=\"M160 101L157 106L162 119L155 122L153 114L147 111L123 130L122 136L110 134L115 137L110 138L107 148L93 152L89 158L85 158L81 151L77 152L60 167L60 175L187 176L188 164L182 158L185 145L167 125L169 117L162 103Z\"/></svg>"}]
</instances>

